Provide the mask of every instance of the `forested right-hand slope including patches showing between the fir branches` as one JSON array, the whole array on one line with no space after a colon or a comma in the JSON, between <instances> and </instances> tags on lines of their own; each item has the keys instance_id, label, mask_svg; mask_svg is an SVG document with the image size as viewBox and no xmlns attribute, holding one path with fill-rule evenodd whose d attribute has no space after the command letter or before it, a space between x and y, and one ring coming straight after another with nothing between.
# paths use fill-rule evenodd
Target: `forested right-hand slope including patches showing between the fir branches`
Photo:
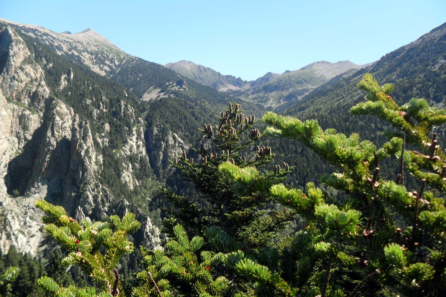
<instances>
[{"instance_id":1,"label":"forested right-hand slope including patches showing between the fir branches","mask_svg":"<svg viewBox=\"0 0 446 297\"><path fill-rule=\"evenodd\" d=\"M393 83L392 96L401 104L410 98L426 98L430 104L439 107L446 103L446 24L433 29L416 41L384 55L379 61L357 71L350 70L306 95L300 102L283 113L301 120L317 119L322 128L335 128L347 135L359 133L362 138L383 143L382 135L386 126L372 116L353 116L352 106L362 100L364 94L357 84L364 73L372 75L380 82ZM441 139L445 130L437 129ZM302 184L315 181L330 170L321 159L309 150L281 140L273 145L287 156L287 162L297 165L292 180ZM385 165L385 164L382 164ZM394 172L386 172L391 175Z\"/></svg>"}]
</instances>

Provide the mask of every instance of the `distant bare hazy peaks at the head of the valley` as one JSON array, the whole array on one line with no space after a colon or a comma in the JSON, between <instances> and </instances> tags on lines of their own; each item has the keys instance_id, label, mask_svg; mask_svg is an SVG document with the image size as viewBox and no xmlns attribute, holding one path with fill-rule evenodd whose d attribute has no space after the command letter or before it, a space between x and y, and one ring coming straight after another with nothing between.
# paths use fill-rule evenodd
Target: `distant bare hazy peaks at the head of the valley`
<instances>
[{"instance_id":1,"label":"distant bare hazy peaks at the head of the valley","mask_svg":"<svg viewBox=\"0 0 446 297\"><path fill-rule=\"evenodd\" d=\"M214 69L194 64L191 61L178 61L165 67L202 85L211 86L221 92L247 101L261 103L276 108L285 102L296 102L312 90L323 85L333 77L351 69L361 69L366 65L356 65L351 61L330 63L317 61L294 71L284 73L268 72L254 81L243 81L240 77L222 75Z\"/></svg>"}]
</instances>

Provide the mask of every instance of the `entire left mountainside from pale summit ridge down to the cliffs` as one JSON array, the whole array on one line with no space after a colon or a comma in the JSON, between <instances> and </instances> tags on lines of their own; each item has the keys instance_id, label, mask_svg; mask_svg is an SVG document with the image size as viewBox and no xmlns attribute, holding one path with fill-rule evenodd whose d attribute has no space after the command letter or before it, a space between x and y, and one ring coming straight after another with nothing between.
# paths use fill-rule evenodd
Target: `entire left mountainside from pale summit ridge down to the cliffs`
<instances>
[{"instance_id":1,"label":"entire left mountainside from pale summit ridge down to the cliffs","mask_svg":"<svg viewBox=\"0 0 446 297\"><path fill-rule=\"evenodd\" d=\"M136 241L157 246L147 215L168 160L195 146L229 99L92 30L0 20L0 39L1 250L37 251L42 197L78 218L131 209L144 223ZM159 210L151 216L159 221Z\"/></svg>"}]
</instances>

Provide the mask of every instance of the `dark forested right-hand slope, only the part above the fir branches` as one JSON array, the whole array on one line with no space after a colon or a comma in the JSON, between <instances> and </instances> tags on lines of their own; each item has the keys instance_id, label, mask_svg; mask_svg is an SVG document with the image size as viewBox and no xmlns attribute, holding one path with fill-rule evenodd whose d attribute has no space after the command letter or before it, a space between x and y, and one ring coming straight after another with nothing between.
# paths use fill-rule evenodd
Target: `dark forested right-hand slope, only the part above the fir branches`
<instances>
[{"instance_id":1,"label":"dark forested right-hand slope, only the part above the fir branches","mask_svg":"<svg viewBox=\"0 0 446 297\"><path fill-rule=\"evenodd\" d=\"M416 41L384 55L379 61L347 76L339 76L302 98L286 110L300 118L318 118L340 131L360 127L365 118L352 117L348 110L362 97L356 87L363 73L381 83L395 84L395 98L407 102L412 97L427 98L443 105L446 96L446 23Z\"/></svg>"}]
</instances>

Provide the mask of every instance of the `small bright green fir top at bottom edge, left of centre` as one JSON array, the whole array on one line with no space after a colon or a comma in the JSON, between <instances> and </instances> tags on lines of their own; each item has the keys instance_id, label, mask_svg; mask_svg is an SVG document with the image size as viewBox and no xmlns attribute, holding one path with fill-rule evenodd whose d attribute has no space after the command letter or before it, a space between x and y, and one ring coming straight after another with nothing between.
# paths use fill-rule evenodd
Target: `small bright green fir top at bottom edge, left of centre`
<instances>
[{"instance_id":1,"label":"small bright green fir top at bottom edge, left of centre","mask_svg":"<svg viewBox=\"0 0 446 297\"><path fill-rule=\"evenodd\" d=\"M202 251L198 256L204 243L202 237L194 236L189 240L186 230L180 225L173 227L173 234L175 239L166 244L168 256L162 250L145 252L143 262L146 270L137 274L140 285L133 289L132 296L243 296L229 293L226 277L213 276L216 267L222 263L222 253ZM176 284L171 285L168 278L174 278Z\"/></svg>"}]
</instances>

